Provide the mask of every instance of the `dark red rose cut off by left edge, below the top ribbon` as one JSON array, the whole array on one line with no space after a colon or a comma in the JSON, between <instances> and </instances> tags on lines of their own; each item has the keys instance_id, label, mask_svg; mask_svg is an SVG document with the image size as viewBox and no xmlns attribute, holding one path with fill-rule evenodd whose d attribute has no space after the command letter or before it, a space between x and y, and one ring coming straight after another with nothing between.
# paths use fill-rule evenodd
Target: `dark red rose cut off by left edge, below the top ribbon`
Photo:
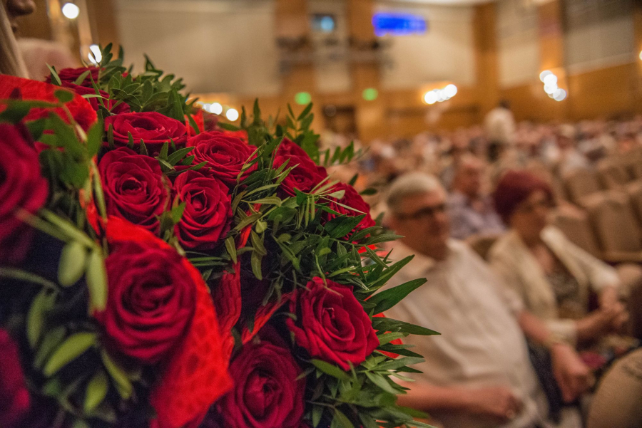
<instances>
[{"instance_id":1,"label":"dark red rose cut off by left edge, below the top ribbon","mask_svg":"<svg viewBox=\"0 0 642 428\"><path fill-rule=\"evenodd\" d=\"M38 153L18 127L0 124L0 265L17 263L31 243L33 229L16 209L36 213L46 202L49 185L40 174Z\"/></svg>"}]
</instances>

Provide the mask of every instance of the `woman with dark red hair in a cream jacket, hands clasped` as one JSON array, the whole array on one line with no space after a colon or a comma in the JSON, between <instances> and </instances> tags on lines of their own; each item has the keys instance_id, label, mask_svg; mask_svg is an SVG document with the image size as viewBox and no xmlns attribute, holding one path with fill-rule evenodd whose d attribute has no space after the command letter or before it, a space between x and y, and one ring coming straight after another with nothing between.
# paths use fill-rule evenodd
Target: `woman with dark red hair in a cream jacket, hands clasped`
<instances>
[{"instance_id":1,"label":"woman with dark red hair in a cream jacket, hands clasped","mask_svg":"<svg viewBox=\"0 0 642 428\"><path fill-rule=\"evenodd\" d=\"M549 226L549 184L530 172L509 171L494 192L495 207L510 231L490 251L490 262L531 313L568 343L588 343L620 330L628 318L618 301L611 266ZM588 311L589 291L599 308Z\"/></svg>"}]
</instances>

